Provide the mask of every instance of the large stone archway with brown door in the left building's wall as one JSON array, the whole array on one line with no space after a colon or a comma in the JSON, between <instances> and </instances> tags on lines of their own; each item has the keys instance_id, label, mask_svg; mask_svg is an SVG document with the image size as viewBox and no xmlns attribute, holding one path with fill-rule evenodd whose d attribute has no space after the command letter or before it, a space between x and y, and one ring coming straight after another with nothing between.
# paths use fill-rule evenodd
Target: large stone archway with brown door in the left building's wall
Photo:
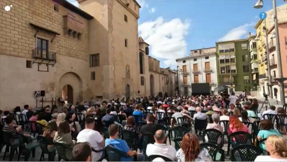
<instances>
[{"instance_id":1,"label":"large stone archway with brown door in the left building's wall","mask_svg":"<svg viewBox=\"0 0 287 162\"><path fill-rule=\"evenodd\" d=\"M83 82L81 77L74 72L67 72L60 77L57 98L63 97L68 103L83 100ZM65 97L65 98L64 98Z\"/></svg>"}]
</instances>

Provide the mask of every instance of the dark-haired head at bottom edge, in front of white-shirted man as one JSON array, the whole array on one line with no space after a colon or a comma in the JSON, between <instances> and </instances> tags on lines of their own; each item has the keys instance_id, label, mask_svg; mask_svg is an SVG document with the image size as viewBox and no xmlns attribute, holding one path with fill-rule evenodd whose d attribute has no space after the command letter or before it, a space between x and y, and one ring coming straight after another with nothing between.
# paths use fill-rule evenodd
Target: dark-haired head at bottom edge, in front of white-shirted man
<instances>
[{"instance_id":1,"label":"dark-haired head at bottom edge, in front of white-shirted man","mask_svg":"<svg viewBox=\"0 0 287 162\"><path fill-rule=\"evenodd\" d=\"M91 147L88 143L78 143L73 148L73 161L91 161Z\"/></svg>"}]
</instances>

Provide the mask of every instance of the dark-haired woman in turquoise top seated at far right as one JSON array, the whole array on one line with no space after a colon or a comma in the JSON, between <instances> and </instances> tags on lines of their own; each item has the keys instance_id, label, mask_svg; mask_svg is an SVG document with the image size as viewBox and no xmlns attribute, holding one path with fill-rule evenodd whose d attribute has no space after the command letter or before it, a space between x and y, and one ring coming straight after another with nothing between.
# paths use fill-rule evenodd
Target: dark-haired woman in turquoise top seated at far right
<instances>
[{"instance_id":1,"label":"dark-haired woman in turquoise top seated at far right","mask_svg":"<svg viewBox=\"0 0 287 162\"><path fill-rule=\"evenodd\" d=\"M257 134L258 140L267 139L271 135L276 135L276 136L282 137L280 132L277 129L274 129L274 125L271 122L271 120L268 120L268 119L261 120L260 126L261 126L261 129L259 130L259 132ZM262 142L259 144L259 147L261 149L266 150L266 146Z\"/></svg>"}]
</instances>

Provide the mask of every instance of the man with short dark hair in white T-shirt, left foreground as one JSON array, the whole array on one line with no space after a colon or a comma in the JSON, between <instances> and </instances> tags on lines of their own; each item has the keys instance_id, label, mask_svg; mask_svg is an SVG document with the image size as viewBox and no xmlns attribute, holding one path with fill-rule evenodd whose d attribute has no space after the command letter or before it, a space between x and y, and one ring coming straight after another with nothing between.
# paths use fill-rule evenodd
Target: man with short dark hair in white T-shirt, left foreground
<instances>
[{"instance_id":1,"label":"man with short dark hair in white T-shirt, left foreground","mask_svg":"<svg viewBox=\"0 0 287 162\"><path fill-rule=\"evenodd\" d=\"M102 150L105 146L105 140L102 135L93 130L94 129L94 119L92 117L88 117L85 120L86 127L84 130L80 131L77 136L77 142L83 143L88 142L92 148L92 150ZM105 157L104 151L95 152L92 151L92 161L98 161Z\"/></svg>"}]
</instances>

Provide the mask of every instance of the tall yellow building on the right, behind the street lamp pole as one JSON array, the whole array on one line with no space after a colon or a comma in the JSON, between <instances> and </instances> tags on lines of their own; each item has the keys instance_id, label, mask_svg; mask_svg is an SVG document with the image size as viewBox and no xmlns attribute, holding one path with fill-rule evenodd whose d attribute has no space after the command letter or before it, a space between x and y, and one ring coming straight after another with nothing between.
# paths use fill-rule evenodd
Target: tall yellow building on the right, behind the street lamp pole
<instances>
[{"instance_id":1,"label":"tall yellow building on the right, behind the street lamp pole","mask_svg":"<svg viewBox=\"0 0 287 162\"><path fill-rule=\"evenodd\" d=\"M274 11L269 10L266 12L267 17L265 20L259 19L254 26L256 29L256 46L257 46L257 58L258 58L258 78L259 86L257 88L258 94L262 96L263 93L268 92L268 72L267 72L267 59L266 59L266 32L272 25L274 25ZM287 4L277 7L278 22L287 20Z\"/></svg>"}]
</instances>

